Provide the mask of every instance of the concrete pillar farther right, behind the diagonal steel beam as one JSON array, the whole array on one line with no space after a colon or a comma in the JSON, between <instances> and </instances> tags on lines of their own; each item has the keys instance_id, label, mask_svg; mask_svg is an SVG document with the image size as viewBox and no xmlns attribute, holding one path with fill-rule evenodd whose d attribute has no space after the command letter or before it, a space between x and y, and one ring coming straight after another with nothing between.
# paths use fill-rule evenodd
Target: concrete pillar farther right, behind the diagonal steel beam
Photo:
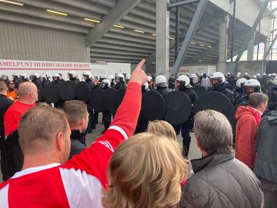
<instances>
[{"instance_id":1,"label":"concrete pillar farther right, behind the diagonal steel beam","mask_svg":"<svg viewBox=\"0 0 277 208\"><path fill-rule=\"evenodd\" d=\"M220 42L218 45L219 58L217 71L221 71L222 73L226 73L229 19L229 15L225 15L220 22Z\"/></svg>"}]
</instances>

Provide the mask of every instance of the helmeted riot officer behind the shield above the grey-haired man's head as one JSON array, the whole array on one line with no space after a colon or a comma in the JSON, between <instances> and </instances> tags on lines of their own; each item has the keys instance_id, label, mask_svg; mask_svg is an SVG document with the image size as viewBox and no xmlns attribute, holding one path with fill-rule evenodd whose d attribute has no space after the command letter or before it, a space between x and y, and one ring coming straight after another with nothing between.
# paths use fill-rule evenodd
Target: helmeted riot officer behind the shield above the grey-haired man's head
<instances>
[{"instance_id":1,"label":"helmeted riot officer behind the shield above the grey-haired man's head","mask_svg":"<svg viewBox=\"0 0 277 208\"><path fill-rule=\"evenodd\" d=\"M211 74L211 84L213 87L210 89L211 91L221 92L225 96L227 96L231 103L235 103L235 94L231 92L230 89L227 89L226 78L221 72L215 72Z\"/></svg>"}]
</instances>

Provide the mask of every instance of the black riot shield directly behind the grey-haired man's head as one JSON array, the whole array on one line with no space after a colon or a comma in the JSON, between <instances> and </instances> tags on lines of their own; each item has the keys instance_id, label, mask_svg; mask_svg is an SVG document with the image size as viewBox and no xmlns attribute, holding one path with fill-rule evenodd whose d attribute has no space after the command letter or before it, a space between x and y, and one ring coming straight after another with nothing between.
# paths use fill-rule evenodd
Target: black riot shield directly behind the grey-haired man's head
<instances>
[{"instance_id":1,"label":"black riot shield directly behind the grey-haired man's head","mask_svg":"<svg viewBox=\"0 0 277 208\"><path fill-rule=\"evenodd\" d=\"M194 105L195 112L210 109L221 112L225 116L228 116L229 112L233 109L233 104L230 99L224 94L215 91L202 94Z\"/></svg>"}]
</instances>

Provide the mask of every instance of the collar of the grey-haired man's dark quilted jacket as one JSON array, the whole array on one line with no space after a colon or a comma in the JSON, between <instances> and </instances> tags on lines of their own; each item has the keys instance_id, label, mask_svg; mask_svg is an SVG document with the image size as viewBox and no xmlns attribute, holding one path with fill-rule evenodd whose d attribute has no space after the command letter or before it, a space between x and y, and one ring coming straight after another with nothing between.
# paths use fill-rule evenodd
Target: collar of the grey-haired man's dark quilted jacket
<instances>
[{"instance_id":1,"label":"collar of the grey-haired man's dark quilted jacket","mask_svg":"<svg viewBox=\"0 0 277 208\"><path fill-rule=\"evenodd\" d=\"M200 159L192 159L191 165L193 166L193 172L197 173L198 171L202 171L204 168L209 166L215 166L222 162L226 162L228 160L233 159L233 155L231 154L214 154L214 155L207 155L206 157L202 157Z\"/></svg>"}]
</instances>

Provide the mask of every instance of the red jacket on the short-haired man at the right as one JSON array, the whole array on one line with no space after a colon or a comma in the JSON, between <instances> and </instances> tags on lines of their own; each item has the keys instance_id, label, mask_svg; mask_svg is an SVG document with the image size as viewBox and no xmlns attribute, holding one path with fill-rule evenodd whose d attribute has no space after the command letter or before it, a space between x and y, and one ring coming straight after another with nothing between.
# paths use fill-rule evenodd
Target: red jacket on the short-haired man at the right
<instances>
[{"instance_id":1,"label":"red jacket on the short-haired man at the right","mask_svg":"<svg viewBox=\"0 0 277 208\"><path fill-rule=\"evenodd\" d=\"M235 128L235 157L253 169L256 159L256 135L258 121L253 108L239 106L235 113L238 123Z\"/></svg>"}]
</instances>

